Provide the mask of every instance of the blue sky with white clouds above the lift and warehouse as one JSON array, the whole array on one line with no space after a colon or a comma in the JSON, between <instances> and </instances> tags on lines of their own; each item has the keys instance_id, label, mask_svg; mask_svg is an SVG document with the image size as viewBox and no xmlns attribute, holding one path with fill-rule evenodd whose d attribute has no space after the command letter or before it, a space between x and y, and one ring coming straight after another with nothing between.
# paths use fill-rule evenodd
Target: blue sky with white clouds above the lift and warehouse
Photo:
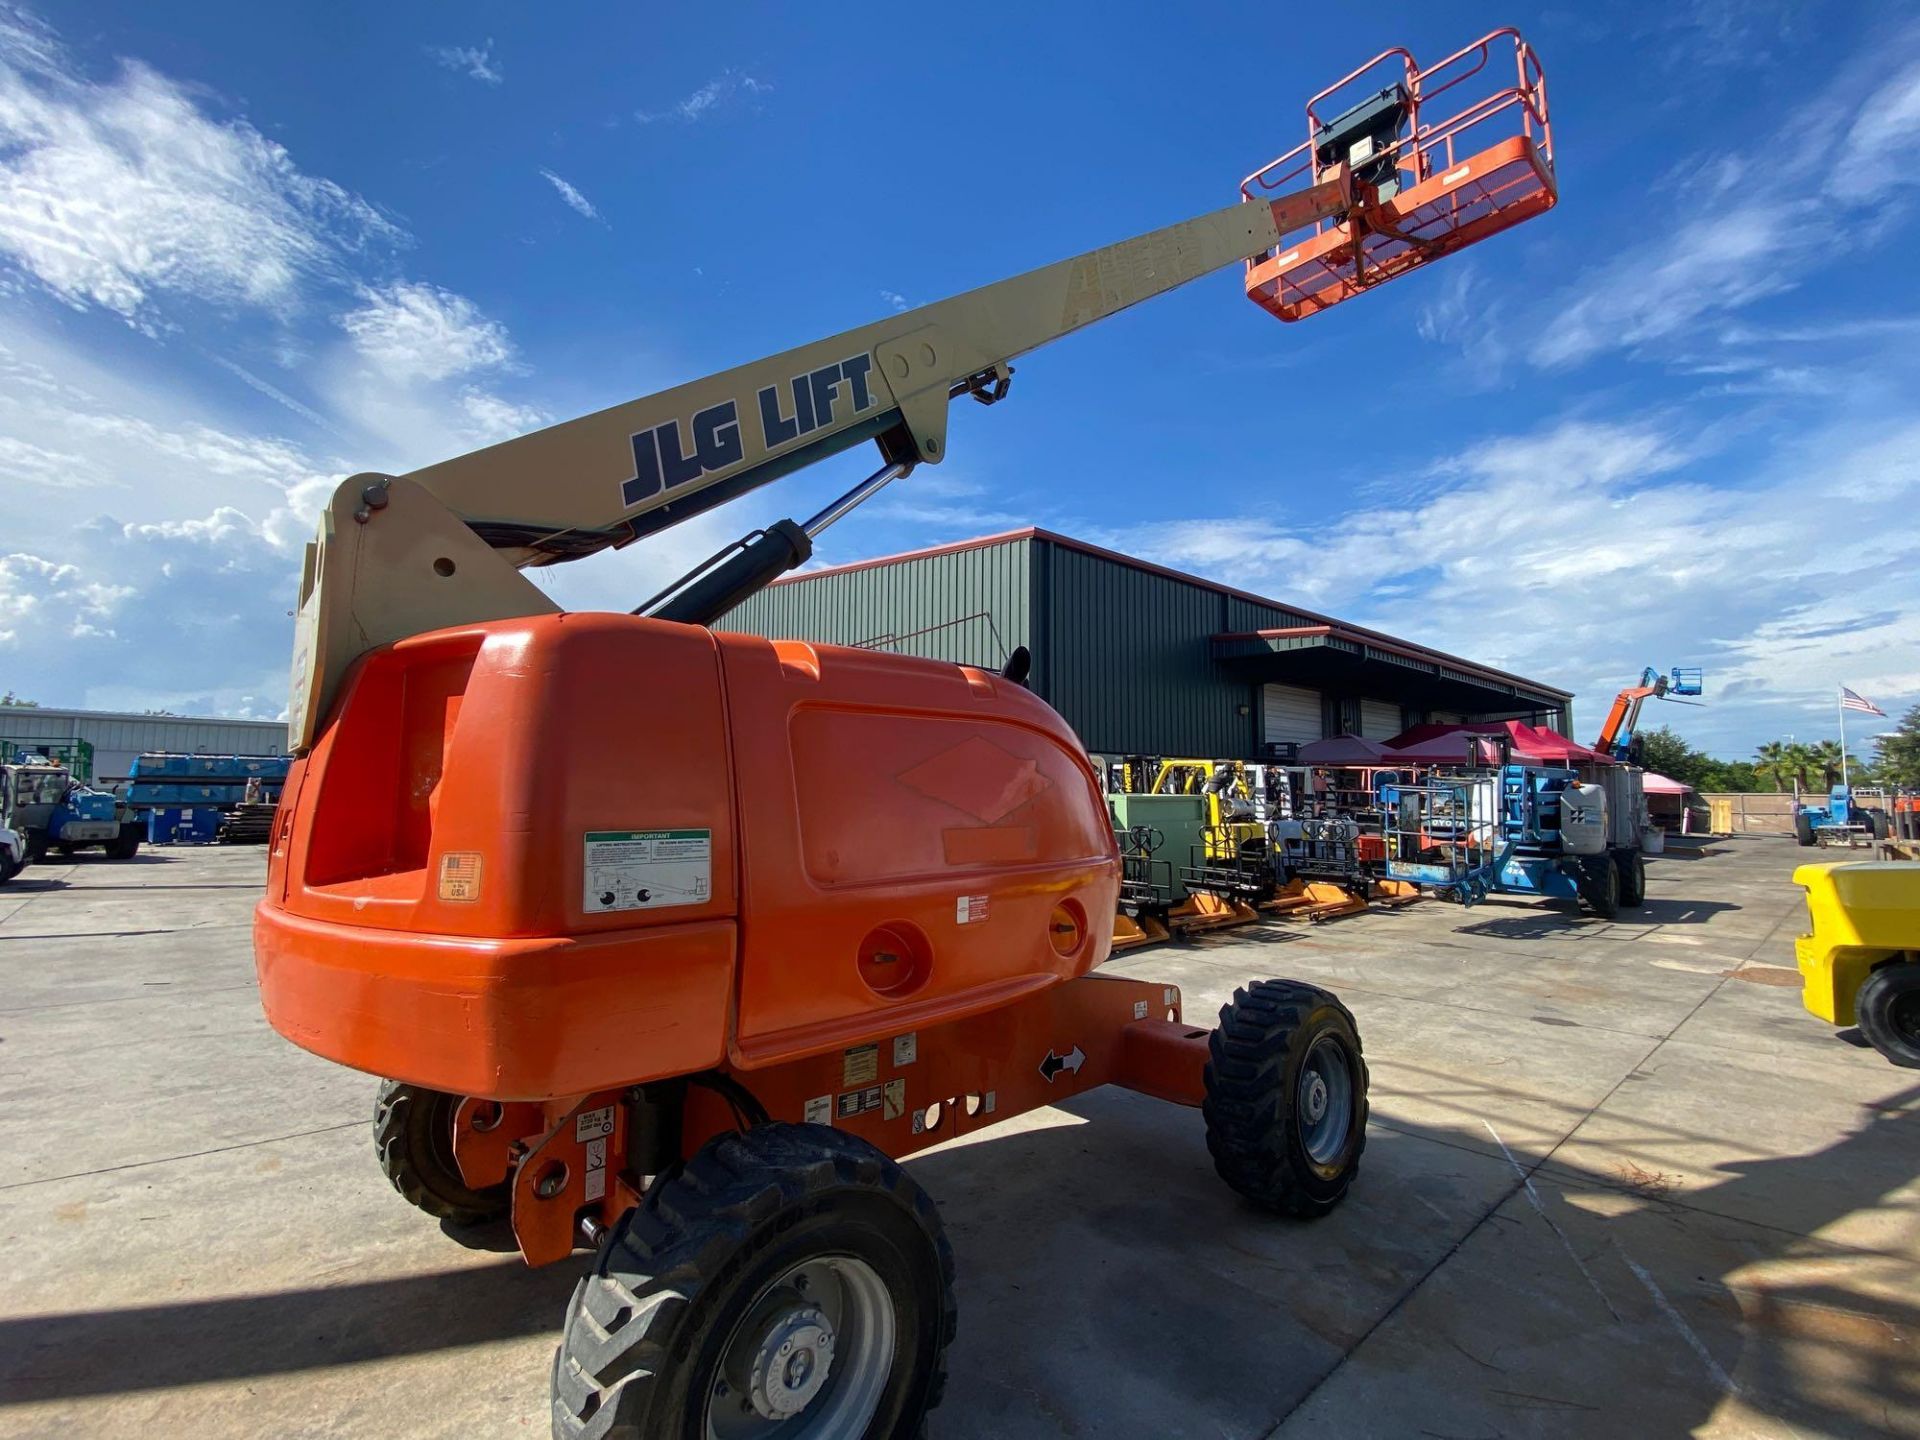
<instances>
[{"instance_id":1,"label":"blue sky with white clouds above the lift and warehouse","mask_svg":"<svg viewBox=\"0 0 1920 1440\"><path fill-rule=\"evenodd\" d=\"M1920 701L1920 23L1559 6L1563 200L1281 326L1202 280L1031 355L826 563L1043 524L1718 753ZM0 689L278 714L300 545L407 470L1233 198L1388 44L1031 6L0 0ZM1196 19L1194 13L1204 17ZM541 576L636 603L862 451Z\"/></svg>"}]
</instances>

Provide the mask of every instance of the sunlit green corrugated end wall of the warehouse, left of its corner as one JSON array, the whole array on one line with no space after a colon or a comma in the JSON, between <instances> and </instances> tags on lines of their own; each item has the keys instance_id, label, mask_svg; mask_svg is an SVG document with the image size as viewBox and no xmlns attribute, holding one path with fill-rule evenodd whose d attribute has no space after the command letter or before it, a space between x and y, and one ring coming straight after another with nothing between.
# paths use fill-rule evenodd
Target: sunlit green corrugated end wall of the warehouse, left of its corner
<instances>
[{"instance_id":1,"label":"sunlit green corrugated end wall of the warehouse, left of its corner","mask_svg":"<svg viewBox=\"0 0 1920 1440\"><path fill-rule=\"evenodd\" d=\"M1008 540L768 586L714 628L998 670L1033 643L1029 549Z\"/></svg>"}]
</instances>

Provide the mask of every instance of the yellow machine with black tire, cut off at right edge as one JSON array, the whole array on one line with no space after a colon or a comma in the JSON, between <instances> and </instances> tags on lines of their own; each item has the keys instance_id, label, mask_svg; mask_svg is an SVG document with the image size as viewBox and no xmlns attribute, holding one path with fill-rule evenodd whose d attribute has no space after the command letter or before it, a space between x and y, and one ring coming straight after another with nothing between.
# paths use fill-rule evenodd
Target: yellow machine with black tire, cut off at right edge
<instances>
[{"instance_id":1,"label":"yellow machine with black tire, cut off at right edge","mask_svg":"<svg viewBox=\"0 0 1920 1440\"><path fill-rule=\"evenodd\" d=\"M1793 941L1807 1008L1859 1025L1895 1066L1920 1069L1920 866L1859 860L1801 866L1812 931Z\"/></svg>"}]
</instances>

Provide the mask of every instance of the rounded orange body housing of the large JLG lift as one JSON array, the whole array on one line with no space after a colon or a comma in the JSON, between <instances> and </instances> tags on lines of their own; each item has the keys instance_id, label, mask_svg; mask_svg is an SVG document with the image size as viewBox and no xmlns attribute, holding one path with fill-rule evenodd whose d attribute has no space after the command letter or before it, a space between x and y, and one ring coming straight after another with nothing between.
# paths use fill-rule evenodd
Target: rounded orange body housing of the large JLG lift
<instances>
[{"instance_id":1,"label":"rounded orange body housing of the large JLG lift","mask_svg":"<svg viewBox=\"0 0 1920 1440\"><path fill-rule=\"evenodd\" d=\"M996 1008L1102 960L1117 893L1096 776L1018 684L551 614L359 662L253 947L296 1044L547 1100Z\"/></svg>"}]
</instances>

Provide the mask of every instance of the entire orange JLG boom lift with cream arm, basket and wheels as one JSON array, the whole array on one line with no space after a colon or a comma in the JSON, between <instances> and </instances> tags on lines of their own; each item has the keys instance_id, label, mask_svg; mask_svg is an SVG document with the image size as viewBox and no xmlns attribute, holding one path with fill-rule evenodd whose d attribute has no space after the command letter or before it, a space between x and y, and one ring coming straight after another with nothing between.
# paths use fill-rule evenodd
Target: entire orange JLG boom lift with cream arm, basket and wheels
<instances>
[{"instance_id":1,"label":"entire orange JLG boom lift with cream arm, basket and wheels","mask_svg":"<svg viewBox=\"0 0 1920 1440\"><path fill-rule=\"evenodd\" d=\"M712 626L939 463L948 401L1002 399L1016 355L1238 261L1298 319L1551 205L1526 44L1498 31L1446 65L1396 50L1336 86L1384 67L1357 104L1323 121L1317 96L1286 194L1256 198L1267 167L1212 215L334 493L261 998L382 1079L380 1162L413 1204L509 1215L536 1265L599 1248L557 1436L916 1434L952 1254L897 1158L1098 1085L1200 1106L1256 1204L1346 1194L1367 1068L1332 995L1261 981L1210 1029L1175 987L1092 973L1119 856L1023 655L987 672ZM563 612L520 574L866 440L881 468L845 497L632 614Z\"/></svg>"}]
</instances>

